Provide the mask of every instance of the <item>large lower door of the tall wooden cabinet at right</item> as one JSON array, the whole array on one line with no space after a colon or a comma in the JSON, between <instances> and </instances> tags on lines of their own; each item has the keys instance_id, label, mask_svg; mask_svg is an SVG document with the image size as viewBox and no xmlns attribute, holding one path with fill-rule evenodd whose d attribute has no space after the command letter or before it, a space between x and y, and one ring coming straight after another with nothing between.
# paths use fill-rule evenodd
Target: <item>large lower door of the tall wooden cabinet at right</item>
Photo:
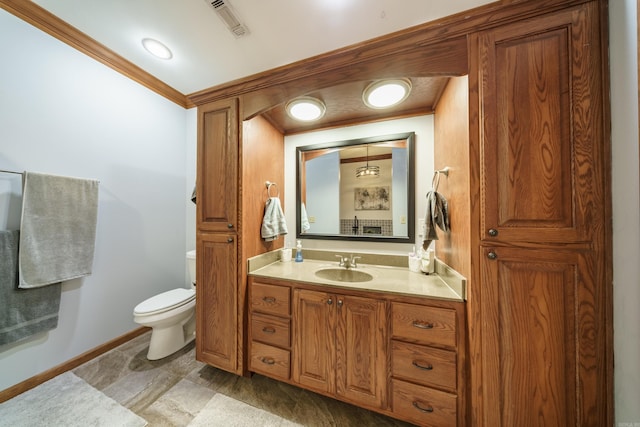
<instances>
[{"instance_id":1,"label":"large lower door of the tall wooden cabinet at right","mask_svg":"<svg viewBox=\"0 0 640 427\"><path fill-rule=\"evenodd\" d=\"M481 248L482 413L491 427L605 425L589 252Z\"/></svg>"}]
</instances>

